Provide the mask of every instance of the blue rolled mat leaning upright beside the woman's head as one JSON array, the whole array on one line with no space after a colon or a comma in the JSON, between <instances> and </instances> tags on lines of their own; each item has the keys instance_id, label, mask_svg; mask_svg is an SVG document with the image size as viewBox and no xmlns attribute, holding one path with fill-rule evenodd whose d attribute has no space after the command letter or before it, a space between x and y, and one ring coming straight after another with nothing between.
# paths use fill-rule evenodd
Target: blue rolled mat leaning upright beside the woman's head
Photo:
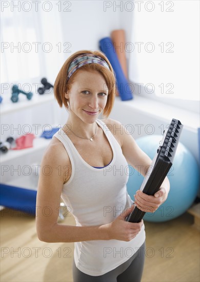
<instances>
[{"instance_id":1,"label":"blue rolled mat leaning upright beside the woman's head","mask_svg":"<svg viewBox=\"0 0 200 282\"><path fill-rule=\"evenodd\" d=\"M130 84L127 78L125 77L125 74L119 63L111 38L110 37L102 38L99 41L99 47L101 51L105 53L105 55L107 56L113 67L113 70L116 75L116 83L117 83L117 90L119 92L119 96L123 101L132 99L133 95L132 95L132 90L130 88Z\"/></svg>"}]
</instances>

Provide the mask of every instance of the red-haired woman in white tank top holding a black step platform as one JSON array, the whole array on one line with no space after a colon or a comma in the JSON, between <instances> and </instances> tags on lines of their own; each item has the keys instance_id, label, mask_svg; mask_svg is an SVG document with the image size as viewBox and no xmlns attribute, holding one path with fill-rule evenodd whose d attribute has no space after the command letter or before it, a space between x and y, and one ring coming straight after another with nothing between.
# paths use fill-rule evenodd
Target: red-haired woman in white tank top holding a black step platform
<instances>
[{"instance_id":1,"label":"red-haired woman in white tank top holding a black step platform","mask_svg":"<svg viewBox=\"0 0 200 282\"><path fill-rule=\"evenodd\" d=\"M167 198L166 178L154 196L127 193L128 164L145 175L151 159L116 120L109 119L115 77L99 51L71 55L59 71L54 94L69 111L66 124L54 134L39 176L36 228L40 240L75 242L74 281L140 281L145 256L145 229L126 216L137 206L154 212ZM98 119L100 114L105 119ZM44 167L51 173L44 173ZM57 223L60 198L76 226ZM51 216L42 212L51 207Z\"/></svg>"}]
</instances>

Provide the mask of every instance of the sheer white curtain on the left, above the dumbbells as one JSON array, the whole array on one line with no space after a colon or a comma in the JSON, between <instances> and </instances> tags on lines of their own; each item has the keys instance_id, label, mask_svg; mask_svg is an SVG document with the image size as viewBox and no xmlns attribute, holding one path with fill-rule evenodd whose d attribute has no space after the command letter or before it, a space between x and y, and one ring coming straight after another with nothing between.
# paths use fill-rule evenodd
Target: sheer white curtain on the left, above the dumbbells
<instances>
[{"instance_id":1,"label":"sheer white curtain on the left, above the dumbbells","mask_svg":"<svg viewBox=\"0 0 200 282\"><path fill-rule=\"evenodd\" d=\"M54 83L63 62L58 50L63 41L61 13L54 1L45 7L33 2L11 1L2 8L1 84L39 83L43 76Z\"/></svg>"}]
</instances>

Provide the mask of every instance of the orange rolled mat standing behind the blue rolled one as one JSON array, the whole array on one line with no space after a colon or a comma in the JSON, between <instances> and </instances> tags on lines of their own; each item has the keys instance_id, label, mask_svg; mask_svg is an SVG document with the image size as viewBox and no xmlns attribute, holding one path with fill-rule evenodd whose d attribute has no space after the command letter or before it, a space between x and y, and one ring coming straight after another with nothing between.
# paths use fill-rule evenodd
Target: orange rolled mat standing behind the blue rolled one
<instances>
[{"instance_id":1,"label":"orange rolled mat standing behind the blue rolled one","mask_svg":"<svg viewBox=\"0 0 200 282\"><path fill-rule=\"evenodd\" d=\"M119 59L119 63L123 69L123 72L128 78L128 70L127 70L127 62L126 62L126 52L125 52L125 44L126 37L124 29L116 29L111 32L111 39L114 45L117 57Z\"/></svg>"}]
</instances>

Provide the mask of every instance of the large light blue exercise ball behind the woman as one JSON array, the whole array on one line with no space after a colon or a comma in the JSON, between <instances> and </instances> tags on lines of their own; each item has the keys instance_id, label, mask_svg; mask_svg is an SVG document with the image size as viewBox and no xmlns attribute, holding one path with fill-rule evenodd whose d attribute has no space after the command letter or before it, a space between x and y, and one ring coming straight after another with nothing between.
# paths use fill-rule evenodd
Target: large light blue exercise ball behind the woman
<instances>
[{"instance_id":1,"label":"large light blue exercise ball behind the woman","mask_svg":"<svg viewBox=\"0 0 200 282\"><path fill-rule=\"evenodd\" d=\"M138 146L153 159L162 136L148 135L136 139ZM168 221L183 214L194 202L199 189L199 167L191 152L179 142L173 165L168 172L170 192L168 198L154 212L147 212L144 220L152 222ZM144 176L129 166L127 191L134 200L134 194L141 187Z\"/></svg>"}]
</instances>

